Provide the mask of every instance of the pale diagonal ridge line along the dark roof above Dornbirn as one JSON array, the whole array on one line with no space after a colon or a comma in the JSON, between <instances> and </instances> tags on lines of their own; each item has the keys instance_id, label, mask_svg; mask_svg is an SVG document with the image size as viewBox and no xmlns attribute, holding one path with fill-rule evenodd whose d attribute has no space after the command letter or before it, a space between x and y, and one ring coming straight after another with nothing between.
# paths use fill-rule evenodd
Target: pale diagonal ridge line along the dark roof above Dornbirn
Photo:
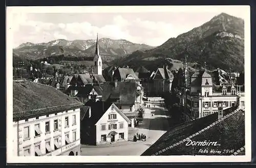
<instances>
[{"instance_id":1,"label":"pale diagonal ridge line along the dark roof above Dornbirn","mask_svg":"<svg viewBox=\"0 0 256 168\"><path fill-rule=\"evenodd\" d=\"M180 145L181 143L184 143L186 140L188 140L188 139L190 139L190 138L193 138L193 137L195 137L195 136L201 134L201 133L204 132L205 130L208 130L208 129L212 128L212 127L215 126L216 124L220 123L221 121L223 121L224 119L226 119L227 117L229 117L230 115L233 115L234 113L236 113L236 112L238 112L238 111L240 111L240 109L234 110L233 112L231 112L231 113L229 113L229 114L227 114L227 115L221 117L220 119L218 119L218 120L215 121L214 123L210 124L209 126L203 128L202 130L200 130L200 131L198 131L198 132L196 132L196 133L194 133L194 134L192 134L192 135L190 135L190 136L188 136L188 137L186 137L186 138L180 140L179 142L173 143L173 145L170 145L170 146L168 146L168 147L166 147L166 148L164 148L164 149L162 149L162 150L156 152L156 153L153 154L152 156L156 156L156 155L158 155L158 154L160 154L160 153L162 153L162 152L164 152L164 151L166 151L166 150L172 149L172 148L174 148L174 147Z\"/></svg>"}]
</instances>

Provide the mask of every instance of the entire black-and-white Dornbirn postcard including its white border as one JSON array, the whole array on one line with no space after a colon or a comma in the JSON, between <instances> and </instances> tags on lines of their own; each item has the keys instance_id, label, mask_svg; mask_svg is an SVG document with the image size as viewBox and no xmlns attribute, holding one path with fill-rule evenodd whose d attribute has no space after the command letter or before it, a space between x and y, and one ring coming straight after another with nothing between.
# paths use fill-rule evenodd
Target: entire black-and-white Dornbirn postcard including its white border
<instances>
[{"instance_id":1,"label":"entire black-and-white Dornbirn postcard including its white border","mask_svg":"<svg viewBox=\"0 0 256 168\"><path fill-rule=\"evenodd\" d=\"M251 160L249 6L7 7L6 30L7 163Z\"/></svg>"}]
</instances>

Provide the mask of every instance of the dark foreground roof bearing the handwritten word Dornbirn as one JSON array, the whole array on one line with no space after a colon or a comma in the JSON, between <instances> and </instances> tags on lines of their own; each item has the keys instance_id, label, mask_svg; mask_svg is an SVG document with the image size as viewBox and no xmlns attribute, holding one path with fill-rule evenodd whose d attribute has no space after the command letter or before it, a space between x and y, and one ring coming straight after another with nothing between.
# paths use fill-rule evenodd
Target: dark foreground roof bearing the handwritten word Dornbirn
<instances>
[{"instance_id":1,"label":"dark foreground roof bearing the handwritten word Dornbirn","mask_svg":"<svg viewBox=\"0 0 256 168\"><path fill-rule=\"evenodd\" d=\"M204 149L237 150L244 146L245 127L244 111L231 107L223 111L224 116L218 119L214 113L195 121L173 127L161 136L142 155L200 155L202 146L186 146L187 140L217 141L221 146L207 146ZM205 154L205 155L210 155ZM231 155L231 153L222 153Z\"/></svg>"}]
</instances>

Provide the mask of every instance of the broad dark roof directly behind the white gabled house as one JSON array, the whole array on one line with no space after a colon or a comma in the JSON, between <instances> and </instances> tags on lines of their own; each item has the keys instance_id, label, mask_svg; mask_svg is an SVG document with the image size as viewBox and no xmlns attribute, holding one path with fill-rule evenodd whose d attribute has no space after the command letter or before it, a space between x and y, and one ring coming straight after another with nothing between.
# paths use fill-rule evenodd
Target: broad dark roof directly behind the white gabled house
<instances>
[{"instance_id":1,"label":"broad dark roof directly behind the white gabled house","mask_svg":"<svg viewBox=\"0 0 256 168\"><path fill-rule=\"evenodd\" d=\"M102 101L119 99L122 105L132 105L135 102L135 82L117 82L117 88L115 88L115 82L105 82L102 88Z\"/></svg>"}]
</instances>

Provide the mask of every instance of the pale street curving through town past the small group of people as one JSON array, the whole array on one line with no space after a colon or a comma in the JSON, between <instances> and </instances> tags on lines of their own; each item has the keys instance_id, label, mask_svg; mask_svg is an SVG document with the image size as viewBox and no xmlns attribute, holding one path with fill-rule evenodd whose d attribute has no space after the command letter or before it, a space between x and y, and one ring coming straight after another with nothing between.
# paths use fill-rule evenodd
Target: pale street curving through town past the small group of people
<instances>
[{"instance_id":1,"label":"pale street curving through town past the small group of people","mask_svg":"<svg viewBox=\"0 0 256 168\"><path fill-rule=\"evenodd\" d=\"M164 103L161 98L148 98L150 101L145 101L144 117L142 122L136 128L129 129L128 141L118 142L115 145L109 146L86 146L81 145L84 156L138 156L141 155L147 148L156 142L168 129L169 117L164 111ZM147 105L150 107L147 108ZM154 114L152 116L152 114ZM138 140L134 142L133 135L136 133L146 135L146 141Z\"/></svg>"}]
</instances>

